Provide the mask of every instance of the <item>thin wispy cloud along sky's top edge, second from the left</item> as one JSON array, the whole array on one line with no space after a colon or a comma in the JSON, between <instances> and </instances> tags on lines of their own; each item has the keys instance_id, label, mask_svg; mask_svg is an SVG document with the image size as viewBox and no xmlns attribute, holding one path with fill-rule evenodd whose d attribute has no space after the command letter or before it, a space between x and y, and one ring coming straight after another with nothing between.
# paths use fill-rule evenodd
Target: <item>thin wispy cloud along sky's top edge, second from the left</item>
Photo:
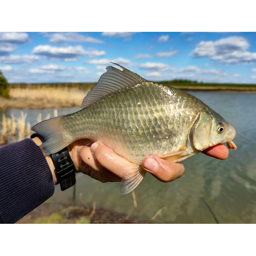
<instances>
[{"instance_id":1,"label":"thin wispy cloud along sky's top edge, second from the left","mask_svg":"<svg viewBox=\"0 0 256 256\"><path fill-rule=\"evenodd\" d=\"M79 42L79 43L92 43L102 44L103 41L89 37L88 35L81 35L77 32L60 32L60 33L44 33L45 37L50 37L49 42L57 45L64 45L67 42Z\"/></svg>"}]
</instances>

